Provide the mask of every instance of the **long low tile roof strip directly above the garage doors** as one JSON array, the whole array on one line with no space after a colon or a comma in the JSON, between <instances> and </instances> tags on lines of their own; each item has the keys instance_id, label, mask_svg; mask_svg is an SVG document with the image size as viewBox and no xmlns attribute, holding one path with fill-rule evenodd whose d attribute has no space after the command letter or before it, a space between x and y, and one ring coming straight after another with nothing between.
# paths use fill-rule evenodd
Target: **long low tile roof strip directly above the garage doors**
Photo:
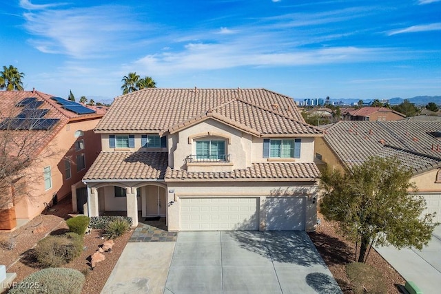
<instances>
[{"instance_id":1,"label":"long low tile roof strip directly above the garage doors","mask_svg":"<svg viewBox=\"0 0 441 294\"><path fill-rule=\"evenodd\" d=\"M316 180L320 171L315 163L253 163L246 169L208 172L167 168L165 181L176 180Z\"/></svg>"}]
</instances>

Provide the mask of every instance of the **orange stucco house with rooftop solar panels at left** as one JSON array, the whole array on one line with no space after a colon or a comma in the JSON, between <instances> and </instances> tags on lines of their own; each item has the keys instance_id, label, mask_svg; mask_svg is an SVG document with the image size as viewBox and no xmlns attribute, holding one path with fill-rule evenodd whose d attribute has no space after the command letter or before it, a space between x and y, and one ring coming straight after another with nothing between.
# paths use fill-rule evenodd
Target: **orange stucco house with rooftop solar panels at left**
<instances>
[{"instance_id":1,"label":"orange stucco house with rooftop solar panels at left","mask_svg":"<svg viewBox=\"0 0 441 294\"><path fill-rule=\"evenodd\" d=\"M31 220L48 205L70 196L72 185L81 185L101 150L101 138L93 129L105 111L35 90L0 92L0 101L1 140L13 138L17 145L28 144L26 148L32 149L25 154L31 162L23 170L26 179L21 178L26 189L1 191L8 195L1 229L14 229L17 221ZM3 156L11 156L14 150L8 152Z\"/></svg>"}]
</instances>

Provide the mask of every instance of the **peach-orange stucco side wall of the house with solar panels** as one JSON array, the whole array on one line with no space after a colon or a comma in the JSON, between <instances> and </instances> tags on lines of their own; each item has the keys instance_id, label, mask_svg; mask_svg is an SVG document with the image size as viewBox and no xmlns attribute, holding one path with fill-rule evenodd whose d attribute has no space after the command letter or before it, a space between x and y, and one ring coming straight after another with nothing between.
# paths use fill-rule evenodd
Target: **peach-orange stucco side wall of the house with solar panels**
<instances>
[{"instance_id":1,"label":"peach-orange stucco side wall of the house with solar panels","mask_svg":"<svg viewBox=\"0 0 441 294\"><path fill-rule=\"evenodd\" d=\"M59 200L70 195L70 187L79 182L90 165L98 156L101 150L100 136L94 134L93 129L99 119L83 120L65 125L50 144L43 149L39 164L32 166L30 173L32 179L32 197L25 198L15 204L16 217L32 219L38 216L45 208L44 202L50 202L54 194L57 194ZM74 134L77 130L81 130L84 136L78 138L85 142L85 149L75 151L74 143L77 140ZM85 169L76 171L76 154L85 154ZM48 156L52 154L52 156ZM71 158L71 178L65 179L65 158ZM37 159L37 161L39 161ZM43 169L51 167L52 188L45 190Z\"/></svg>"}]
</instances>

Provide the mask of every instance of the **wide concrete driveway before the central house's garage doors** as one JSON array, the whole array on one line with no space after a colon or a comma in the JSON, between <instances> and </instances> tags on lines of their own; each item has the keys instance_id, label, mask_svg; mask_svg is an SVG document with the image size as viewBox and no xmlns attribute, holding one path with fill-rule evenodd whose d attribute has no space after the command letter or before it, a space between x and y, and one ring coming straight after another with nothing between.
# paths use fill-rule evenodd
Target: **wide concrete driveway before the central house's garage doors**
<instances>
[{"instance_id":1,"label":"wide concrete driveway before the central house's garage doors","mask_svg":"<svg viewBox=\"0 0 441 294\"><path fill-rule=\"evenodd\" d=\"M341 293L307 233L181 232L164 293Z\"/></svg>"}]
</instances>

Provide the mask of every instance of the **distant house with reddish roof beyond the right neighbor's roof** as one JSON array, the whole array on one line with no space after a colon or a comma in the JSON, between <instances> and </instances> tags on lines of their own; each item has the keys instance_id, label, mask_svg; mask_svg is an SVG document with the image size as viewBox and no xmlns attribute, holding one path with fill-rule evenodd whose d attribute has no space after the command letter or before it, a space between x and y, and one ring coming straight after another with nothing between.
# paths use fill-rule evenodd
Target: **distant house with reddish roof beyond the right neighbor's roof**
<instances>
[{"instance_id":1,"label":"distant house with reddish roof beyond the right neighbor's roof","mask_svg":"<svg viewBox=\"0 0 441 294\"><path fill-rule=\"evenodd\" d=\"M404 114L387 107L362 107L360 109L349 107L347 109L342 109L343 120L389 121L400 120L405 117Z\"/></svg>"}]
</instances>

